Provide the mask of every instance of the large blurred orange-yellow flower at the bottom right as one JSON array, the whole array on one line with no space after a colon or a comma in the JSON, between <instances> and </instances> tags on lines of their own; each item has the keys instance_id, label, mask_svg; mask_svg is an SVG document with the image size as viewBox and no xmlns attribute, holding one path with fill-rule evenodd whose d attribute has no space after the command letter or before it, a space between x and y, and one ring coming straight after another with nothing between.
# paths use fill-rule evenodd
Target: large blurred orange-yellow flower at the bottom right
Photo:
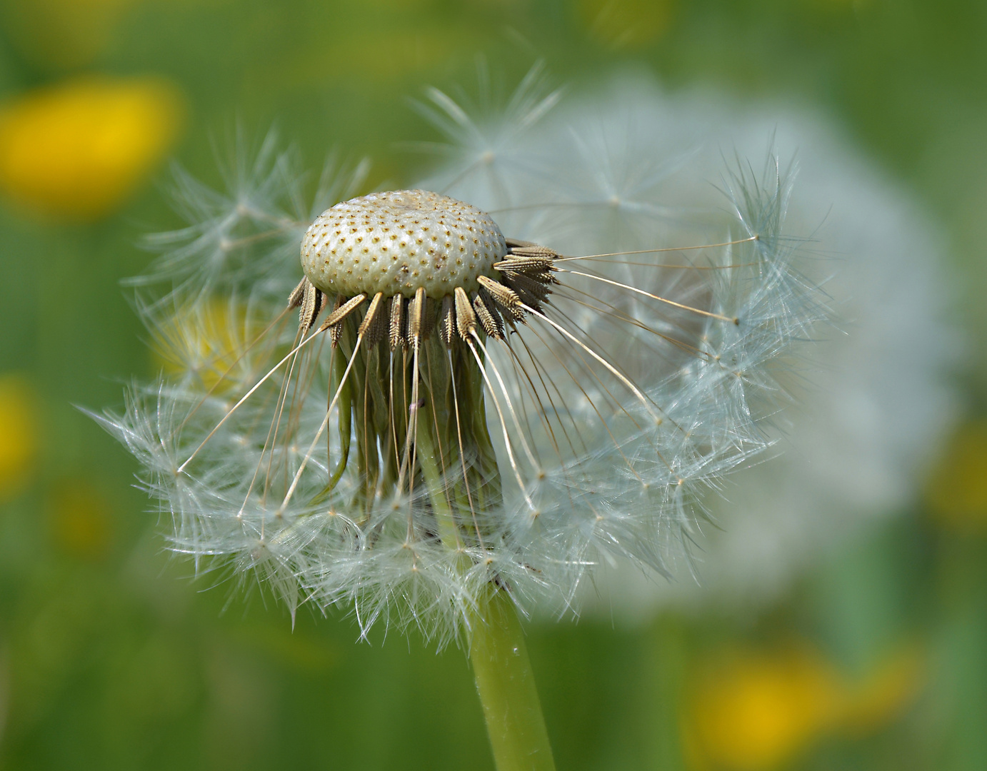
<instances>
[{"instance_id":1,"label":"large blurred orange-yellow flower at the bottom right","mask_svg":"<svg viewBox=\"0 0 987 771\"><path fill-rule=\"evenodd\" d=\"M735 653L697 681L683 719L686 754L696 769L778 768L827 732L882 728L914 700L924 675L914 645L856 683L806 645Z\"/></svg>"}]
</instances>

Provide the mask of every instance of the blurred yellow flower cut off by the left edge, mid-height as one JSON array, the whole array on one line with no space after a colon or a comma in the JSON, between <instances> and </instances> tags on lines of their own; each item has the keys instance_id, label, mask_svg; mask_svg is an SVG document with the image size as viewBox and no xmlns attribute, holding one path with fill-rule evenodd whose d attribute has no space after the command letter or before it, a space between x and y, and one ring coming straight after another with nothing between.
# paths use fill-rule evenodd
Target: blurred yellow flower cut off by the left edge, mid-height
<instances>
[{"instance_id":1,"label":"blurred yellow flower cut off by the left edge, mid-height","mask_svg":"<svg viewBox=\"0 0 987 771\"><path fill-rule=\"evenodd\" d=\"M38 410L31 385L22 375L0 375L0 501L24 488L37 454Z\"/></svg>"}]
</instances>

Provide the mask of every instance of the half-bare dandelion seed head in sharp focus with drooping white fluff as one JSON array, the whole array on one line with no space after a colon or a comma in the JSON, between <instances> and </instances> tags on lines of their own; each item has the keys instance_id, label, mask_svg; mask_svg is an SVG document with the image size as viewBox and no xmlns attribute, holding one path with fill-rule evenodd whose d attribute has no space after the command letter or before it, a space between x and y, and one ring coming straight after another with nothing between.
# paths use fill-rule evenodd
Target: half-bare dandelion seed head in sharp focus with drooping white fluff
<instances>
[{"instance_id":1,"label":"half-bare dandelion seed head in sharp focus with drooping white fluff","mask_svg":"<svg viewBox=\"0 0 987 771\"><path fill-rule=\"evenodd\" d=\"M828 311L775 154L726 164L721 209L699 209L670 182L677 157L632 160L634 137L577 119L539 132L558 95L537 69L493 131L428 96L464 140L433 148L457 159L422 186L438 193L315 216L364 167L328 165L305 206L269 137L225 193L180 172L190 224L136 281L166 374L100 420L197 572L260 578L292 614L351 608L364 636L465 639L491 721L485 678L510 678L484 661L509 606L567 613L601 562L688 560L705 499L772 446Z\"/></svg>"}]
</instances>

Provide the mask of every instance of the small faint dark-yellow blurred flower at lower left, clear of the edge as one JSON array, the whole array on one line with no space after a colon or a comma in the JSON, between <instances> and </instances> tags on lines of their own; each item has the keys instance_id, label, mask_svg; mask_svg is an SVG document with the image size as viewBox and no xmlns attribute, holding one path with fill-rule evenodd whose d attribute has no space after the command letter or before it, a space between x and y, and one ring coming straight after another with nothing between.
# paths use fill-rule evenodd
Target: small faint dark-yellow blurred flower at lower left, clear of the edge
<instances>
[{"instance_id":1,"label":"small faint dark-yellow blurred flower at lower left, clear of the edge","mask_svg":"<svg viewBox=\"0 0 987 771\"><path fill-rule=\"evenodd\" d=\"M55 544L73 557L98 560L110 549L110 509L84 480L62 481L48 501Z\"/></svg>"}]
</instances>

